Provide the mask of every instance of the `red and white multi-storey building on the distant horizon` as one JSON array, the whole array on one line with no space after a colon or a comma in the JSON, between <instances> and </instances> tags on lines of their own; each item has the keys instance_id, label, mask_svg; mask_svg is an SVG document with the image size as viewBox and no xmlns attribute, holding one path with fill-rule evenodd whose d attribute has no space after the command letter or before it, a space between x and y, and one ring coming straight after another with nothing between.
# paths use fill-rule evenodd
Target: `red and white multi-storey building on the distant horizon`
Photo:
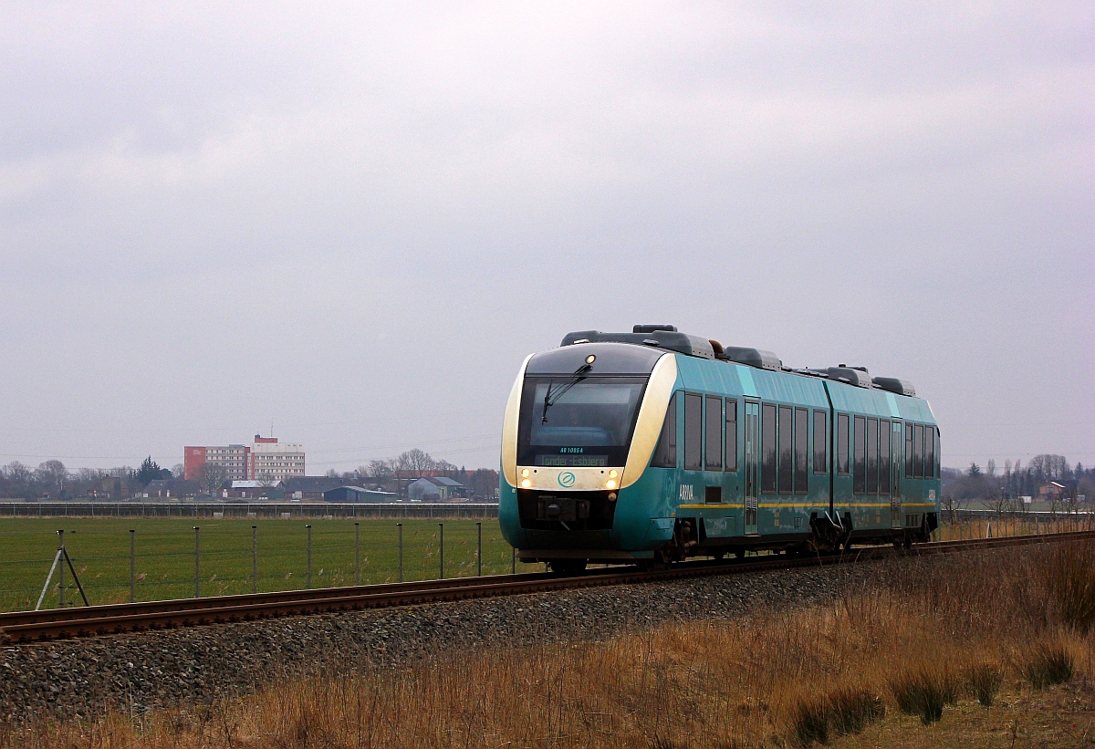
<instances>
[{"instance_id":1,"label":"red and white multi-storey building on the distant horizon","mask_svg":"<svg viewBox=\"0 0 1095 749\"><path fill-rule=\"evenodd\" d=\"M187 481L205 479L205 466L223 469L224 481L281 481L304 475L304 446L255 435L252 445L187 446L183 468Z\"/></svg>"}]
</instances>

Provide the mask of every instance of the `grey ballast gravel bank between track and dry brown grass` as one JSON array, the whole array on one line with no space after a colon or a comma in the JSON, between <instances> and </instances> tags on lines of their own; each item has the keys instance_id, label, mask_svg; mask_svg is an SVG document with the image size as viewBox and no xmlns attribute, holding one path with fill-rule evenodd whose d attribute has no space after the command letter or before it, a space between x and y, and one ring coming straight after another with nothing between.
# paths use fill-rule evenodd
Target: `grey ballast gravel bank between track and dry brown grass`
<instances>
[{"instance_id":1,"label":"grey ballast gravel bank between track and dry brown grass","mask_svg":"<svg viewBox=\"0 0 1095 749\"><path fill-rule=\"evenodd\" d=\"M832 599L888 577L880 573L891 564L924 562L577 588L4 646L0 722L205 704L275 679L405 665L441 652L596 641L667 622L733 619Z\"/></svg>"}]
</instances>

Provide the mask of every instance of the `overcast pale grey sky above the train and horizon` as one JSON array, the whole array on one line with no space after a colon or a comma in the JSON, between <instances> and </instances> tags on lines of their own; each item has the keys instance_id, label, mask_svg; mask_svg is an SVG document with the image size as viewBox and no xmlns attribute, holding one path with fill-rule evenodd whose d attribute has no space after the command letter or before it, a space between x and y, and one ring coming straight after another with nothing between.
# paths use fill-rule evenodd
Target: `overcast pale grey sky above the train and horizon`
<instances>
[{"instance_id":1,"label":"overcast pale grey sky above the train and horizon","mask_svg":"<svg viewBox=\"0 0 1095 749\"><path fill-rule=\"evenodd\" d=\"M0 3L0 463L496 466L638 322L1095 463L1093 9Z\"/></svg>"}]
</instances>

